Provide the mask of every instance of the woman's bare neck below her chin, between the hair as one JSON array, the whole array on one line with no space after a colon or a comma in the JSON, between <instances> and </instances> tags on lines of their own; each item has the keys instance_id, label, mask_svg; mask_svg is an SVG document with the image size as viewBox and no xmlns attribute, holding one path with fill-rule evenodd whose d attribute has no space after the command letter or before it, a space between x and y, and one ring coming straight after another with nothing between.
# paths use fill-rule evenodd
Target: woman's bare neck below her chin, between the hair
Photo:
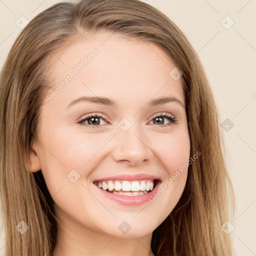
<instances>
[{"instance_id":1,"label":"woman's bare neck below her chin, between the hair","mask_svg":"<svg viewBox=\"0 0 256 256\"><path fill-rule=\"evenodd\" d=\"M57 224L52 256L154 256L151 250L152 233L123 238L82 226L67 216L58 216L58 220L61 225Z\"/></svg>"}]
</instances>

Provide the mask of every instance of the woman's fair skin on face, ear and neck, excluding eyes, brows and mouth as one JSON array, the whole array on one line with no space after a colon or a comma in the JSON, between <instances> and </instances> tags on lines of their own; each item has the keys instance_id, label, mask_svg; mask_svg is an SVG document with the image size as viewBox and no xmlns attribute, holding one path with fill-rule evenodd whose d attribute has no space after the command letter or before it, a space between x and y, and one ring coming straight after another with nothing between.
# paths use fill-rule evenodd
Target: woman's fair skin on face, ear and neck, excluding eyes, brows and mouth
<instances>
[{"instance_id":1,"label":"woman's fair skin on face, ear and neck, excluding eyes, brows and mouth","mask_svg":"<svg viewBox=\"0 0 256 256\"><path fill-rule=\"evenodd\" d=\"M50 60L48 77L54 89L87 54L99 50L52 99L45 97L30 156L30 170L41 169L59 219L54 256L153 255L152 232L172 211L186 182L184 169L154 202L137 206L106 198L92 183L104 176L146 173L164 184L189 160L181 79L169 75L175 64L152 42L111 34L101 31L75 40L58 52L61 61L55 56ZM115 100L118 107L79 102L65 109L73 99L95 95ZM146 105L166 95L183 106ZM102 114L98 127L88 119L85 126L78 123L89 113ZM178 122L155 122L161 113L172 114ZM125 132L117 126L123 118L131 124ZM80 174L74 183L66 176L72 169ZM118 228L123 221L131 226L125 234Z\"/></svg>"}]
</instances>

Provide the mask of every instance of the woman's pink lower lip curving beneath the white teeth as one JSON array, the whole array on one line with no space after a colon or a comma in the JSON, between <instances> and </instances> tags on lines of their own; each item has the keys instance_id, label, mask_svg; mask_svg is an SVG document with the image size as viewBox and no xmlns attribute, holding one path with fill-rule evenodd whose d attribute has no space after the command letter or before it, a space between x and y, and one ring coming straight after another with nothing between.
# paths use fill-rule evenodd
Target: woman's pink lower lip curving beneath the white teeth
<instances>
[{"instance_id":1,"label":"woman's pink lower lip curving beneath the white teeth","mask_svg":"<svg viewBox=\"0 0 256 256\"><path fill-rule=\"evenodd\" d=\"M95 184L94 184L95 185ZM155 191L157 190L157 187L160 185L160 181L157 182L156 186L148 193L142 194L142 195L133 195L133 196L128 196L128 195L120 195L120 194L114 194L114 193L109 193L106 192L105 190L99 188L97 185L95 185L103 195L105 195L107 198L114 200L120 204L123 205L140 205L145 202L149 202L149 197L152 196Z\"/></svg>"}]
</instances>

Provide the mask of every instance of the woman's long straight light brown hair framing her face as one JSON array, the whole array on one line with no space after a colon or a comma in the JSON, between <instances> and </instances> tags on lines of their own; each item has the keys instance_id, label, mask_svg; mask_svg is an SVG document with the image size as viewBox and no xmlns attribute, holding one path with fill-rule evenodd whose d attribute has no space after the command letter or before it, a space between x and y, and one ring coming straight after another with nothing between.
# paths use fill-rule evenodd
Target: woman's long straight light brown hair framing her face
<instances>
[{"instance_id":1,"label":"woman's long straight light brown hair framing her face","mask_svg":"<svg viewBox=\"0 0 256 256\"><path fill-rule=\"evenodd\" d=\"M35 16L13 43L0 73L0 187L7 256L52 254L56 219L41 171L28 171L40 107L50 88L48 57L89 31L107 30L154 42L182 71L190 136L184 191L153 231L155 255L231 255L229 235L233 191L227 174L218 109L196 52L162 12L139 0L60 2ZM229 196L229 197L228 197ZM228 200L230 198L230 200ZM233 207L231 207L233 212ZM24 221L21 222L20 221ZM21 234L17 228L29 227ZM19 224L19 225L18 225ZM18 227L17 227L18 225Z\"/></svg>"}]
</instances>

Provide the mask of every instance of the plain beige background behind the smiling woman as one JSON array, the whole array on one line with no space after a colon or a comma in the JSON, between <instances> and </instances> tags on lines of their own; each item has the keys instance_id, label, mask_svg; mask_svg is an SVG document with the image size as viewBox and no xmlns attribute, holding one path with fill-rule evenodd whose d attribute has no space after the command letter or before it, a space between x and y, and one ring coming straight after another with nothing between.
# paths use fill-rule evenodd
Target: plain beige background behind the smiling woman
<instances>
[{"instance_id":1,"label":"plain beige background behind the smiling woman","mask_svg":"<svg viewBox=\"0 0 256 256\"><path fill-rule=\"evenodd\" d=\"M15 21L22 15L30 20L55 2L0 0L0 68L21 31ZM231 234L237 255L256 255L256 1L146 2L165 13L186 35L205 68L221 122L228 118L234 124L224 130L236 197ZM226 29L232 20L234 24ZM0 237L2 255L7 241L3 234Z\"/></svg>"}]
</instances>

